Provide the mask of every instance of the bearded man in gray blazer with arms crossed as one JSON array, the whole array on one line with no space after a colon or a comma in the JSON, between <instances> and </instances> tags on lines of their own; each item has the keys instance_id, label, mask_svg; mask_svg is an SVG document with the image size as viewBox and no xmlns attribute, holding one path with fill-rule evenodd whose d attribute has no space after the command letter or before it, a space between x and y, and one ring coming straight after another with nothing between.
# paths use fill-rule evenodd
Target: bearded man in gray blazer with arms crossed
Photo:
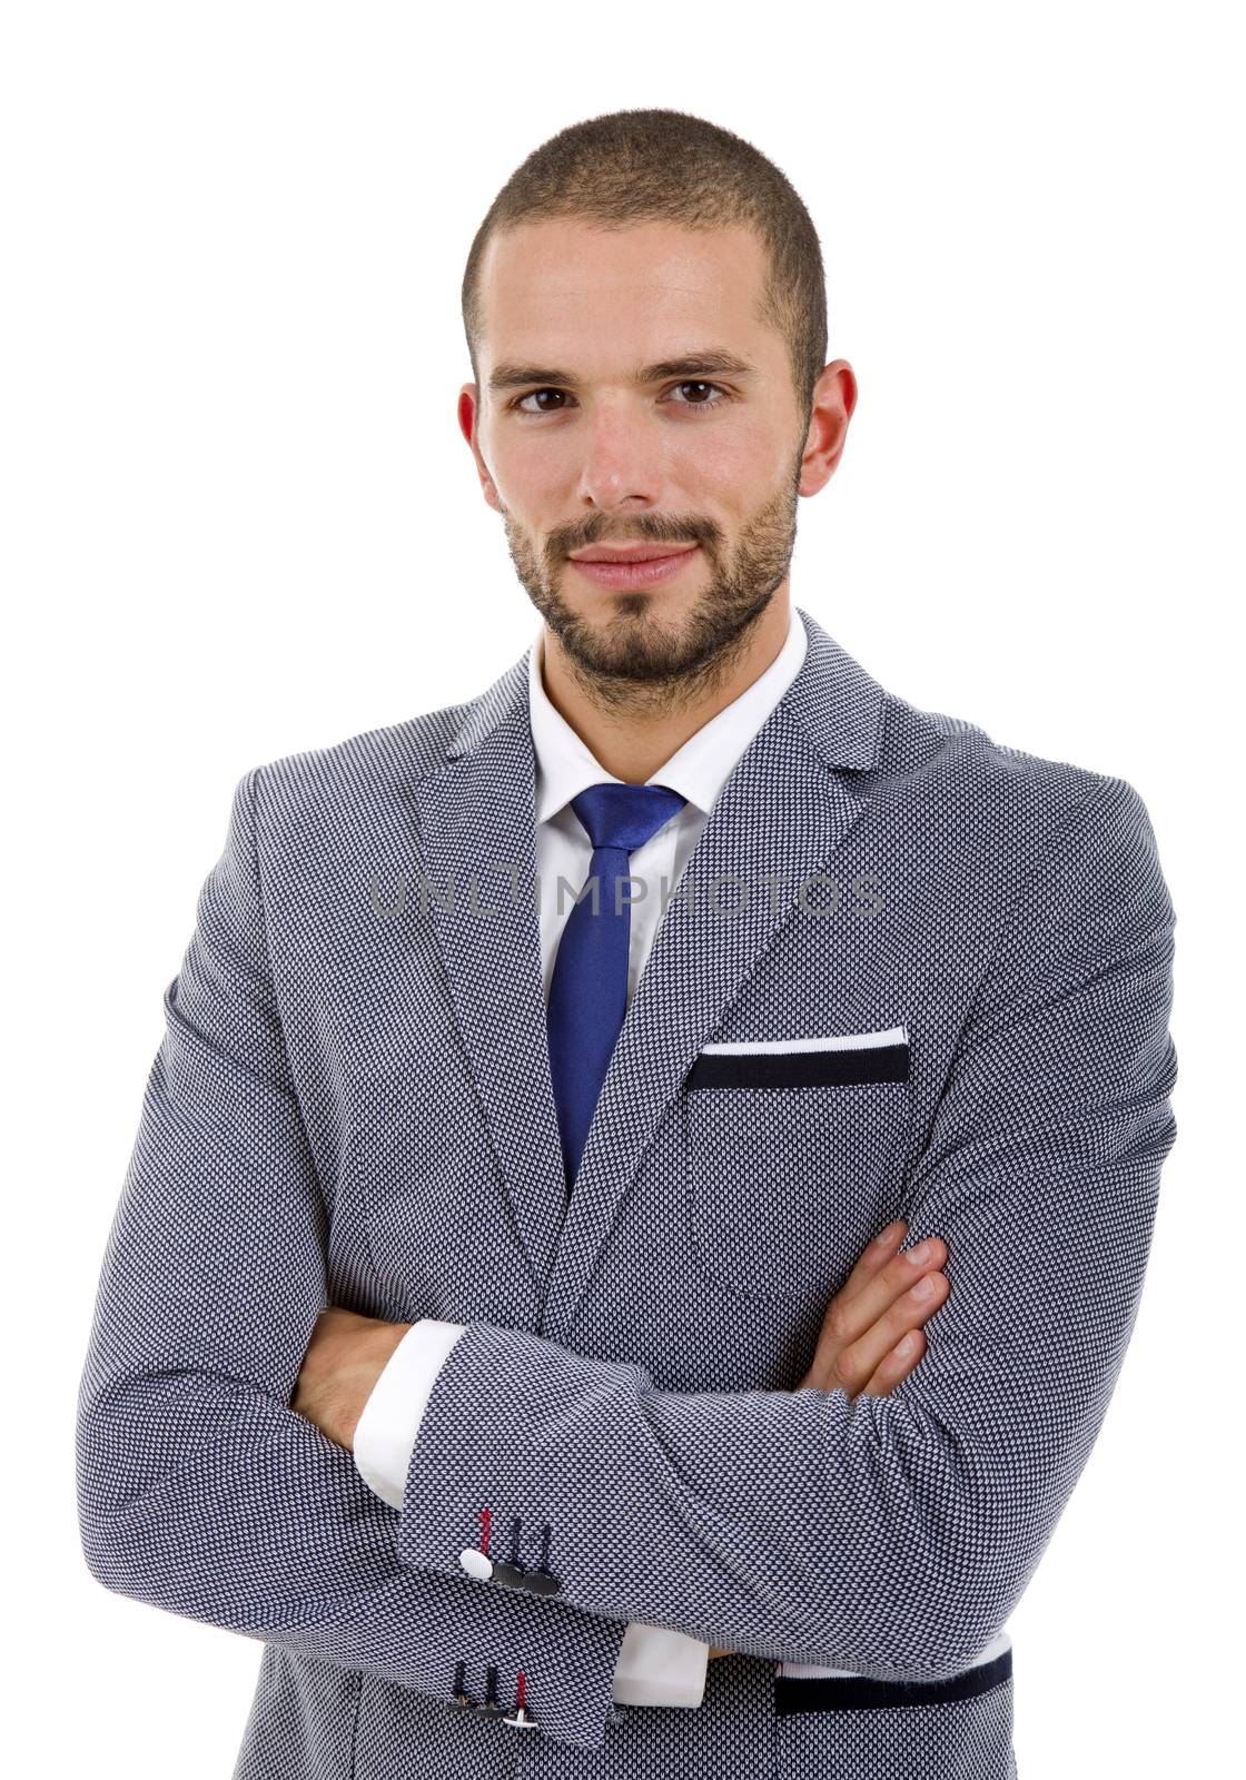
<instances>
[{"instance_id":1,"label":"bearded man in gray blazer with arms crossed","mask_svg":"<svg viewBox=\"0 0 1246 1780\"><path fill-rule=\"evenodd\" d=\"M463 308L541 628L237 787L100 1282L87 1563L263 1639L235 1780L1002 1780L1175 1137L1146 810L792 609L856 384L749 144L561 132Z\"/></svg>"}]
</instances>

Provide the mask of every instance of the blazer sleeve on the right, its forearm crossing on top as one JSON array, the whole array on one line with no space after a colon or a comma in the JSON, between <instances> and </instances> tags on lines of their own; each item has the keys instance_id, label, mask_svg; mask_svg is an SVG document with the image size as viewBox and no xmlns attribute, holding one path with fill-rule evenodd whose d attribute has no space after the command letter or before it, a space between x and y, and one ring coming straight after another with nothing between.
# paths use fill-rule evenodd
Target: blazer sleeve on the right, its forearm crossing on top
<instances>
[{"instance_id":1,"label":"blazer sleeve on the right, its forearm crossing on top","mask_svg":"<svg viewBox=\"0 0 1246 1780\"><path fill-rule=\"evenodd\" d=\"M1000 917L895 1207L906 1246L949 1248L917 1369L856 1401L678 1394L468 1324L411 1454L409 1563L449 1575L490 1504L550 1525L562 1600L742 1654L922 1680L999 1632L1104 1420L1177 1129L1152 826L1123 780L1079 789Z\"/></svg>"}]
</instances>

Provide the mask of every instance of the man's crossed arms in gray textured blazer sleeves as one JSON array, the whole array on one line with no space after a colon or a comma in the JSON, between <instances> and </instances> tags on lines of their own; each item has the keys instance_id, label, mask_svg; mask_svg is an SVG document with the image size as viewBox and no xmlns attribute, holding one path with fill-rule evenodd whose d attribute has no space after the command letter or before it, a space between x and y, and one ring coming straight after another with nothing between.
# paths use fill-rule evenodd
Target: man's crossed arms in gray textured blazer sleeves
<instances>
[{"instance_id":1,"label":"man's crossed arms in gray textured blazer sleeves","mask_svg":"<svg viewBox=\"0 0 1246 1780\"><path fill-rule=\"evenodd\" d=\"M902 1207L952 1273L915 1376L854 1401L675 1394L473 1323L395 1511L290 1406L329 1296L326 1209L267 959L260 771L166 993L109 1234L78 1399L91 1572L438 1698L465 1652L539 1655L536 1716L584 1746L628 1622L881 1679L965 1666L1089 1456L1175 1137L1175 918L1137 794L1088 776L1004 918ZM518 1376L523 1399L498 1388ZM557 1525L557 1597L461 1574L481 1501Z\"/></svg>"}]
</instances>

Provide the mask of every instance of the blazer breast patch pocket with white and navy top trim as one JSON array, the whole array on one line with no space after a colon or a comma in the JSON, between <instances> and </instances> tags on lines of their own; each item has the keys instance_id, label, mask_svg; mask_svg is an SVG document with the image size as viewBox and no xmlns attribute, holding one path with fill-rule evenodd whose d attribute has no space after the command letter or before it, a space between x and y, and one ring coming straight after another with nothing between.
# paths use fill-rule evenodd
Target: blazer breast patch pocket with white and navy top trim
<instances>
[{"instance_id":1,"label":"blazer breast patch pocket with white and navy top trim","mask_svg":"<svg viewBox=\"0 0 1246 1780\"><path fill-rule=\"evenodd\" d=\"M700 1271L748 1294L837 1285L901 1198L908 1032L708 1043L682 1120Z\"/></svg>"}]
</instances>

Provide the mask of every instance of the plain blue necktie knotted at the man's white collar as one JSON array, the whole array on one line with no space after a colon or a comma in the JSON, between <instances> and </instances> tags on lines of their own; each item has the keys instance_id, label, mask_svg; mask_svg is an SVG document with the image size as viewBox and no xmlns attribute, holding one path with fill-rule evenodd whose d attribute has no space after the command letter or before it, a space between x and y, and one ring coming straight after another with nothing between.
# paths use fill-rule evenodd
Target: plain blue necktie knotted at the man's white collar
<instances>
[{"instance_id":1,"label":"plain blue necktie knotted at the man's white collar","mask_svg":"<svg viewBox=\"0 0 1246 1780\"><path fill-rule=\"evenodd\" d=\"M575 904L559 938L546 1031L550 1075L562 1137L568 1189L580 1168L580 1155L593 1123L602 1082L627 1013L627 959L632 910L623 886L623 906L614 911L616 883L628 876L628 854L659 831L687 797L666 785L589 785L571 808L593 842L589 885ZM598 911L593 885L598 881Z\"/></svg>"}]
</instances>

